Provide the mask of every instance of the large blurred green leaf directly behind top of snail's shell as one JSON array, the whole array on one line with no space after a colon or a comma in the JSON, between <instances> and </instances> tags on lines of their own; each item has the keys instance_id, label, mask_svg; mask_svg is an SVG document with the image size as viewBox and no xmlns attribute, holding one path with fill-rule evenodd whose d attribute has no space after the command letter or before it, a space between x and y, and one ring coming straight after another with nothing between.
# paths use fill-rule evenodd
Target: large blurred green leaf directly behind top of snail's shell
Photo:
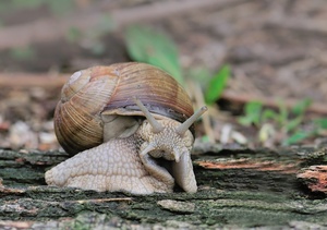
<instances>
[{"instance_id":1,"label":"large blurred green leaf directly behind top of snail's shell","mask_svg":"<svg viewBox=\"0 0 327 230\"><path fill-rule=\"evenodd\" d=\"M125 40L129 56L134 61L156 65L184 84L178 49L167 35L149 27L131 26L126 29Z\"/></svg>"}]
</instances>

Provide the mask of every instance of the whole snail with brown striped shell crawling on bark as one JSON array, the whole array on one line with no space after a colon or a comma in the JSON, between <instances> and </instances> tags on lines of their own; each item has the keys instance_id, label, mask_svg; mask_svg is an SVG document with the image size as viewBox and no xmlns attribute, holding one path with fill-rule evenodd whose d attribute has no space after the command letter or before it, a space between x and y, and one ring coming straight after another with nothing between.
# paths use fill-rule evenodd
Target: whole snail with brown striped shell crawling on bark
<instances>
[{"instance_id":1,"label":"whole snail with brown striped shell crawling on bark","mask_svg":"<svg viewBox=\"0 0 327 230\"><path fill-rule=\"evenodd\" d=\"M128 62L75 72L55 111L55 131L72 157L47 184L132 194L197 191L191 160L194 113L185 90L162 70Z\"/></svg>"}]
</instances>

